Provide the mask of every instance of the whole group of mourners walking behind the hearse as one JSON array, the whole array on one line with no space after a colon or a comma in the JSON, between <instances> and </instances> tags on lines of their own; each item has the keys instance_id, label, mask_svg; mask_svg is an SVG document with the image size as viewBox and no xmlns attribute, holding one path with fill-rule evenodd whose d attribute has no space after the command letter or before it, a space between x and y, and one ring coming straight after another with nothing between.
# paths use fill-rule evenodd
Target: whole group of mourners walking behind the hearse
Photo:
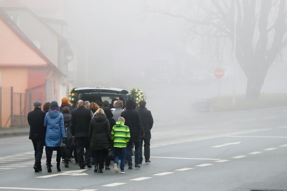
<instances>
[{"instance_id":1,"label":"whole group of mourners walking behind the hearse","mask_svg":"<svg viewBox=\"0 0 287 191\"><path fill-rule=\"evenodd\" d=\"M80 169L94 165L95 173L110 170L112 161L114 172L118 173L120 161L120 173L125 173L125 164L128 169L133 169L133 148L134 167L141 168L143 146L145 162L150 163L151 111L147 110L146 101L140 101L137 110L134 100L126 100L125 108L123 106L121 100L114 100L112 107L107 100L102 105L78 100L73 109L68 98L64 97L60 106L57 101L46 102L42 110L42 103L35 101L34 110L28 113L29 139L35 151L35 172L42 171L44 146L48 173L52 172L53 151L57 151L58 172L61 171L61 158L65 168L74 158ZM65 149L60 147L61 142L65 144Z\"/></svg>"}]
</instances>

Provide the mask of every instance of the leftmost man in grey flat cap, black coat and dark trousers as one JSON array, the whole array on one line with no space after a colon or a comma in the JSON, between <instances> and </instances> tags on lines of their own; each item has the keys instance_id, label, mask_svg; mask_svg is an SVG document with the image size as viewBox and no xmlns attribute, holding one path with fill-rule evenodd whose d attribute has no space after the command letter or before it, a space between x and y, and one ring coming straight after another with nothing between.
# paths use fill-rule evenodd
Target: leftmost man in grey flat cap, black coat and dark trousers
<instances>
[{"instance_id":1,"label":"leftmost man in grey flat cap, black coat and dark trousers","mask_svg":"<svg viewBox=\"0 0 287 191\"><path fill-rule=\"evenodd\" d=\"M30 125L29 139L32 140L35 151L35 172L42 171L41 158L46 136L46 127L44 127L46 112L41 110L41 105L40 101L35 101L34 110L28 113L28 123Z\"/></svg>"}]
</instances>

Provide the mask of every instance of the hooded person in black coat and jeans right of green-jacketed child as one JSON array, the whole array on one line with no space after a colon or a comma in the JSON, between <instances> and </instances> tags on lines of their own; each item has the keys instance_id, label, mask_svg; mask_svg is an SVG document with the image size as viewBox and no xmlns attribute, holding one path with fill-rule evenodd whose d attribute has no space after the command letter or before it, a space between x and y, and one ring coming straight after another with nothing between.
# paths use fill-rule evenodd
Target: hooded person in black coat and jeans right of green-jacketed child
<instances>
[{"instance_id":1,"label":"hooded person in black coat and jeans right of green-jacketed child","mask_svg":"<svg viewBox=\"0 0 287 191\"><path fill-rule=\"evenodd\" d=\"M129 169L133 169L131 153L133 149L134 143L134 163L136 168L140 168L139 166L139 148L140 148L140 141L141 137L144 137L144 129L143 125L141 124L141 117L139 112L136 109L136 103L134 100L127 100L126 101L126 110L121 112L121 117L124 117L126 120L125 125L129 127L129 131L131 134L130 141L126 145L126 160L129 165Z\"/></svg>"}]
</instances>

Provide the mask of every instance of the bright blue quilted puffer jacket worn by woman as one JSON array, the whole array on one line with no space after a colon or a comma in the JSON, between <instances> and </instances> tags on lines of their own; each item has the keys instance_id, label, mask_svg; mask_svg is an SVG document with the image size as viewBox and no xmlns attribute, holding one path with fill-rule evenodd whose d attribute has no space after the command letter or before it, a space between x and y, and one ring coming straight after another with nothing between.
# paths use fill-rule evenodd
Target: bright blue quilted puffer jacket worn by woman
<instances>
[{"instance_id":1,"label":"bright blue quilted puffer jacket worn by woman","mask_svg":"<svg viewBox=\"0 0 287 191\"><path fill-rule=\"evenodd\" d=\"M60 141L65 135L64 118L58 108L51 108L46 113L44 126L46 131L46 146L60 146Z\"/></svg>"}]
</instances>

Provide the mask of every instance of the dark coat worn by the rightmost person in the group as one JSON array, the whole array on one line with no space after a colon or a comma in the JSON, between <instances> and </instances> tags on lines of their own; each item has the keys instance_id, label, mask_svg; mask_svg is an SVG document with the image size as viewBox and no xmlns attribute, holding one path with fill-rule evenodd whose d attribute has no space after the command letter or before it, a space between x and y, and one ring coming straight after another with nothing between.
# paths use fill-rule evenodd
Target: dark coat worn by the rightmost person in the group
<instances>
[{"instance_id":1,"label":"dark coat worn by the rightmost person in the group","mask_svg":"<svg viewBox=\"0 0 287 191\"><path fill-rule=\"evenodd\" d=\"M151 128L153 127L153 116L150 110L145 107L139 107L139 115L141 116L141 123L144 127L144 139L151 139Z\"/></svg>"}]
</instances>

